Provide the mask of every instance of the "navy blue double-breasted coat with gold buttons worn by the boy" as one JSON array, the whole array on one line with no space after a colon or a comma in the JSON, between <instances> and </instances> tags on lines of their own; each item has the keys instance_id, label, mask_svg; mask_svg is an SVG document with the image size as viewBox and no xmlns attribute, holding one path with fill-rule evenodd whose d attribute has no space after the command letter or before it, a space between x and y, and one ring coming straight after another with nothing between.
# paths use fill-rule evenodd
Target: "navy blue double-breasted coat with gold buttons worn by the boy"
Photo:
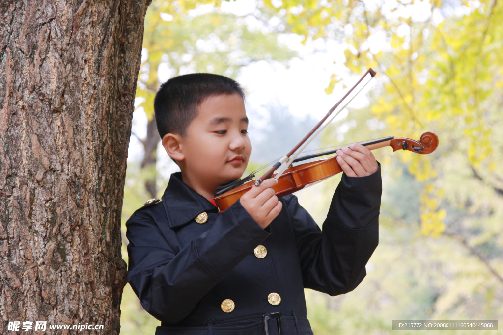
<instances>
[{"instance_id":1,"label":"navy blue double-breasted coat with gold buttons worn by the boy","mask_svg":"<svg viewBox=\"0 0 503 335\"><path fill-rule=\"evenodd\" d=\"M174 173L161 201L126 222L128 282L161 321L156 335L264 334L262 316L271 312L283 314L284 334L312 334L304 288L334 296L360 284L378 244L381 193L380 164L365 177L343 173L323 231L295 195L280 198L283 208L264 230L239 201L218 214ZM198 224L203 211L208 220ZM254 253L259 245L264 258ZM273 292L278 305L268 301ZM231 312L221 308L225 299Z\"/></svg>"}]
</instances>

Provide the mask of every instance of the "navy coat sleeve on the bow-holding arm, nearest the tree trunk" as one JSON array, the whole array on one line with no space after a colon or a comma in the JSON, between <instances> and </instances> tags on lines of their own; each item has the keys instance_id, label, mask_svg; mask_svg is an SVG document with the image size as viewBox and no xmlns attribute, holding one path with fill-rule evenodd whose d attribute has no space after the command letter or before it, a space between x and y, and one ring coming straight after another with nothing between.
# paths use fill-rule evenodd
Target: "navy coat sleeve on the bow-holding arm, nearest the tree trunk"
<instances>
[{"instance_id":1,"label":"navy coat sleeve on the bow-holding arm, nearest the tree trunk","mask_svg":"<svg viewBox=\"0 0 503 335\"><path fill-rule=\"evenodd\" d=\"M126 227L128 282L143 308L167 323L187 316L211 288L270 235L239 201L218 215L211 229L182 249L175 233L163 235L148 211L134 213Z\"/></svg>"}]
</instances>

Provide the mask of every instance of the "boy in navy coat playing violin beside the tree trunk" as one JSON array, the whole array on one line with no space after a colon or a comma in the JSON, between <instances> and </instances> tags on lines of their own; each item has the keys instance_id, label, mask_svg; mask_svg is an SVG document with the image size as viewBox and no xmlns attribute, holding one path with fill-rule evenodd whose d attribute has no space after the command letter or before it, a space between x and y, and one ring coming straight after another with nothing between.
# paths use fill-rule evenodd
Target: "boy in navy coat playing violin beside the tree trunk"
<instances>
[{"instance_id":1,"label":"boy in navy coat playing violin beside the tree trunk","mask_svg":"<svg viewBox=\"0 0 503 335\"><path fill-rule=\"evenodd\" d=\"M378 244L382 185L370 150L338 152L344 173L322 232L295 195L274 195L274 178L218 214L215 188L240 178L251 152L241 87L178 76L161 85L154 110L181 172L162 201L135 211L126 236L128 281L161 320L155 334L312 334L304 288L352 291Z\"/></svg>"}]
</instances>

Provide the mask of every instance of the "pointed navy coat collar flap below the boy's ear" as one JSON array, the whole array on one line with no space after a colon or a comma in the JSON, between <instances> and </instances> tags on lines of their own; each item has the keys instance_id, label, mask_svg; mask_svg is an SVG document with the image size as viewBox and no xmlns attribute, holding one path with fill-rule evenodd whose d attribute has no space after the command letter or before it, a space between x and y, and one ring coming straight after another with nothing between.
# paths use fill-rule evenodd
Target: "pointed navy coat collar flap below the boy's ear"
<instances>
[{"instance_id":1,"label":"pointed navy coat collar flap below the boy's ear","mask_svg":"<svg viewBox=\"0 0 503 335\"><path fill-rule=\"evenodd\" d=\"M162 195L162 203L171 228L186 224L204 211L217 209L182 181L182 172L171 174L170 182Z\"/></svg>"}]
</instances>

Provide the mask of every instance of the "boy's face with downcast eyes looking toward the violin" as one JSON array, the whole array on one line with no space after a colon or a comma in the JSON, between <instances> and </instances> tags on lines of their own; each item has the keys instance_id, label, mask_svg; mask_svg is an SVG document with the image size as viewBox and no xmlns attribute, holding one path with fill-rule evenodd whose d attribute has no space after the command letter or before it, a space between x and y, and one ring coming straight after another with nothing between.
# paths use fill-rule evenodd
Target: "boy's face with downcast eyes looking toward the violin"
<instances>
[{"instance_id":1,"label":"boy's face with downcast eyes looking toward the violin","mask_svg":"<svg viewBox=\"0 0 503 335\"><path fill-rule=\"evenodd\" d=\"M192 182L221 185L240 178L248 165L251 144L241 96L209 96L181 139L183 173Z\"/></svg>"}]
</instances>

